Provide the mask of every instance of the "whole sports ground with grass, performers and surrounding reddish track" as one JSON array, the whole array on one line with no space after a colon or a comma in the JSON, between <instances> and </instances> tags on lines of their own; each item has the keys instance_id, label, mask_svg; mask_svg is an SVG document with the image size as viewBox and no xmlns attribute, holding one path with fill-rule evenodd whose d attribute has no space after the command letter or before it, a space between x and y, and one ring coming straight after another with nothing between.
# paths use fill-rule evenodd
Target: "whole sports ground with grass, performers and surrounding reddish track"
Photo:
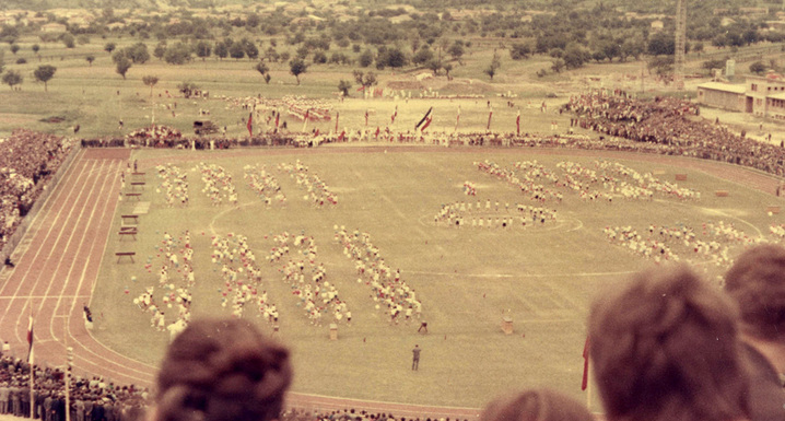
<instances>
[{"instance_id":1,"label":"whole sports ground with grass, performers and surrounding reddish track","mask_svg":"<svg viewBox=\"0 0 785 421\"><path fill-rule=\"evenodd\" d=\"M2 325L15 326L3 338L23 350L34 315L39 361L62 366L68 347L75 374L149 386L184 314L234 315L293 348L305 367L293 406L473 417L522 385L586 399L585 317L598 291L666 260L719 283L739 249L781 239L777 182L762 172L512 139L73 148L3 270ZM421 308L391 316L374 262ZM324 285L316 312L308 284Z\"/></svg>"}]
</instances>

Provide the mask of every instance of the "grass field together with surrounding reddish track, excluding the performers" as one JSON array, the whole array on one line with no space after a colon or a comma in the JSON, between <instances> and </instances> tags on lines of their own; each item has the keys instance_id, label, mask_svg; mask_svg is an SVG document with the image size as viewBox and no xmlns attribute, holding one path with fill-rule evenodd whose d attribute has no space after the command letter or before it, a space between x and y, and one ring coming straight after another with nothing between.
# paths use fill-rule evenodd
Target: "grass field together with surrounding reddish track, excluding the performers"
<instances>
[{"instance_id":1,"label":"grass field together with surrounding reddish track, excluding the performers","mask_svg":"<svg viewBox=\"0 0 785 421\"><path fill-rule=\"evenodd\" d=\"M151 203L149 213L139 215L136 239L118 235L120 215L137 207L133 197L117 201L120 173L128 163L124 155L138 160L139 171L145 173L145 184L134 191L141 194L140 202ZM337 206L311 204L293 178L278 169L279 164L297 160L329 185L338 196ZM560 162L600 172L595 164L600 160L640 173L652 172L670 183L676 174L686 174L687 180L676 183L700 191L701 198L657 195L653 200L625 200L614 196L608 202L584 200L562 188L561 202L538 204L509 183L479 171L476 162L485 160L516 174L523 173L514 167L516 162L535 160L553 173L560 172ZM167 207L164 195L156 191L161 179L155 166L166 163L187 174L190 199L186 208ZM196 171L199 163L223 166L232 175L238 194L236 206L210 203ZM267 207L246 186L244 167L257 164L266 165L278 178L288 198L285 206ZM477 196L464 194L466 182L473 184ZM211 238L232 233L248 237L263 271L258 288L278 305L280 332L274 335L294 350L293 388L297 393L477 408L505 390L548 386L585 400L579 384L588 303L608 284L653 264L653 259L612 244L604 229L629 225L648 235L649 225L688 226L701 236L720 222L723 226L733 224L741 239L714 238L727 245L733 257L745 242L778 241L770 226L782 224L783 218L766 210L782 204L772 195L775 186L773 178L738 166L569 150L382 145L223 152L142 150L132 154L128 150L89 150L74 161L33 224L16 269L4 269L7 281L0 300L8 311L1 315L0 326L11 330L3 330L1 336L10 337L21 353L27 307L32 305L37 314L40 360L63 363L63 331L68 326L77 373L101 373L124 384L150 384L168 334L155 331L149 314L142 313L133 299L151 285L160 291L155 267L163 264L159 255L165 233L176 239L186 230L190 232L195 316L230 314L231 304L222 306L226 286L220 266L212 262ZM602 190L601 182L596 189ZM718 190L728 196L716 196ZM129 191L127 185L124 192ZM507 229L472 227L471 223L458 229L434 223L443 204L478 200L482 210L476 217L491 218L494 223L495 218L514 214L514 210L506 210L506 203L512 209L517 203L556 209L558 217L535 226ZM485 208L488 200L490 209ZM333 241L336 225L345 226L349 233L359 230L370 234L385 262L400 269L401 278L417 290L423 303L427 335L417 332L419 321L391 325L384 308L375 308L377 302L370 297L368 288L356 282L353 261ZM339 324L339 340L328 339L329 315L323 326L312 326L292 288L282 281L279 269L289 257L274 264L267 261L274 246L272 237L283 232L314 237L317 260L327 270L326 280L350 305L352 325ZM705 269L711 282L716 282L725 268L713 258L688 253L687 247L677 248L672 246L681 260ZM134 262L124 259L118 264L115 254L130 250L136 253ZM160 300L157 296L161 305ZM92 332L84 328L83 304L91 306L96 318ZM500 328L507 311L515 324L511 336ZM174 321L174 311L168 316L167 323ZM258 316L254 306L244 309L244 317L258 320L272 334L271 324ZM409 370L414 343L423 348L417 373Z\"/></svg>"}]
</instances>

